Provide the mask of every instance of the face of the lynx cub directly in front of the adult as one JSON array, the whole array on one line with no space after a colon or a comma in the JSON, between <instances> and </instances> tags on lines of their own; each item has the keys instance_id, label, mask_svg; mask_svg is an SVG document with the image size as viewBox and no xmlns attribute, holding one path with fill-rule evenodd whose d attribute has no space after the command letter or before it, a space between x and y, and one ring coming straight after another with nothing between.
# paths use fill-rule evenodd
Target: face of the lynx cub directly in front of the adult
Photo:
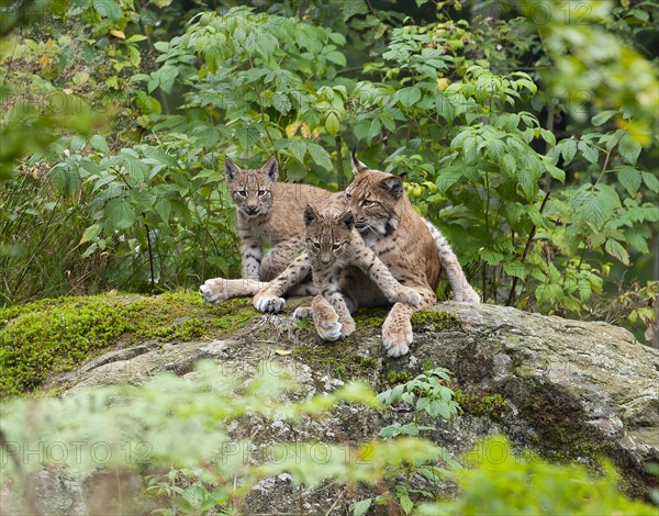
<instances>
[{"instance_id":1,"label":"face of the lynx cub directly in front of the adult","mask_svg":"<svg viewBox=\"0 0 659 516\"><path fill-rule=\"evenodd\" d=\"M323 212L306 206L304 238L312 260L330 265L340 260L353 239L355 217L351 212Z\"/></svg>"}]
</instances>

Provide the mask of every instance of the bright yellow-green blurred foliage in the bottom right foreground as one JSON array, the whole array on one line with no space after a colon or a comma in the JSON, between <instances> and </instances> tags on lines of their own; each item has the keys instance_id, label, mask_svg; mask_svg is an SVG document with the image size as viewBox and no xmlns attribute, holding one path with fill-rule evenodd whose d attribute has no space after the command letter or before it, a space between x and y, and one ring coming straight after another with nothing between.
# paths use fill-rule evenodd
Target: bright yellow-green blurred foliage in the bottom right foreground
<instances>
[{"instance_id":1,"label":"bright yellow-green blurred foliage in the bottom right foreground","mask_svg":"<svg viewBox=\"0 0 659 516\"><path fill-rule=\"evenodd\" d=\"M533 455L515 456L503 437L492 437L467 457L472 468L453 475L461 489L458 498L427 504L420 515L554 515L657 513L643 502L632 502L616 489L612 465L593 475L584 467L557 465Z\"/></svg>"}]
</instances>

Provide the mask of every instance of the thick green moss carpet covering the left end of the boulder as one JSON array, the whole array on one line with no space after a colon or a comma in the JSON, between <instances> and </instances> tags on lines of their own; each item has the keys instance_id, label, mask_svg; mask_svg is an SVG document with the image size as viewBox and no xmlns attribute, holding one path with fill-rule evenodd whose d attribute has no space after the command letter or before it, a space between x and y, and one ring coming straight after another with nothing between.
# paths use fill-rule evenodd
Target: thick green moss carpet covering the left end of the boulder
<instances>
[{"instance_id":1,"label":"thick green moss carpet covering the left end of the boulder","mask_svg":"<svg viewBox=\"0 0 659 516\"><path fill-rule=\"evenodd\" d=\"M210 306L197 293L60 298L0 310L0 395L33 391L111 346L189 341L236 329L257 315L246 300Z\"/></svg>"}]
</instances>

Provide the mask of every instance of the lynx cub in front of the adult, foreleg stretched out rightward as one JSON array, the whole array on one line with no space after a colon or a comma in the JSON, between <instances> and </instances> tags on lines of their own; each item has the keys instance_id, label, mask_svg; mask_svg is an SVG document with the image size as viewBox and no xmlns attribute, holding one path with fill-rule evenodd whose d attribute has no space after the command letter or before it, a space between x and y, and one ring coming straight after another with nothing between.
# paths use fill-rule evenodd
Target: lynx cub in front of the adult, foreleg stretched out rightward
<instances>
[{"instance_id":1,"label":"lynx cub in front of the adult, foreleg stretched out rightward","mask_svg":"<svg viewBox=\"0 0 659 516\"><path fill-rule=\"evenodd\" d=\"M306 206L304 226L306 249L319 295L313 300L311 309L299 307L294 316L312 316L322 338L336 340L355 330L355 321L342 294L346 285L340 281L342 272L351 268L368 274L391 303L421 303L418 292L401 285L387 266L364 244L355 229L355 216L351 212L319 212Z\"/></svg>"}]
</instances>

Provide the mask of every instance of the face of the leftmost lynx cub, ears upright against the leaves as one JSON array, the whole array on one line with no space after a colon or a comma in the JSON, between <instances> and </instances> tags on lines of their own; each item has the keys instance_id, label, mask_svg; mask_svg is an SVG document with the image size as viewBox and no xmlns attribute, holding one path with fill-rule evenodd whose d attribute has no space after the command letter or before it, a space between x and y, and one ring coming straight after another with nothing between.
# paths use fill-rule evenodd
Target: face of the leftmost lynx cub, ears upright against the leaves
<instances>
[{"instance_id":1,"label":"face of the leftmost lynx cub, ears upright against the leaves","mask_svg":"<svg viewBox=\"0 0 659 516\"><path fill-rule=\"evenodd\" d=\"M230 158L224 161L226 183L237 209L247 216L268 213L272 206L272 184L277 181L275 156L260 169L241 169Z\"/></svg>"}]
</instances>

